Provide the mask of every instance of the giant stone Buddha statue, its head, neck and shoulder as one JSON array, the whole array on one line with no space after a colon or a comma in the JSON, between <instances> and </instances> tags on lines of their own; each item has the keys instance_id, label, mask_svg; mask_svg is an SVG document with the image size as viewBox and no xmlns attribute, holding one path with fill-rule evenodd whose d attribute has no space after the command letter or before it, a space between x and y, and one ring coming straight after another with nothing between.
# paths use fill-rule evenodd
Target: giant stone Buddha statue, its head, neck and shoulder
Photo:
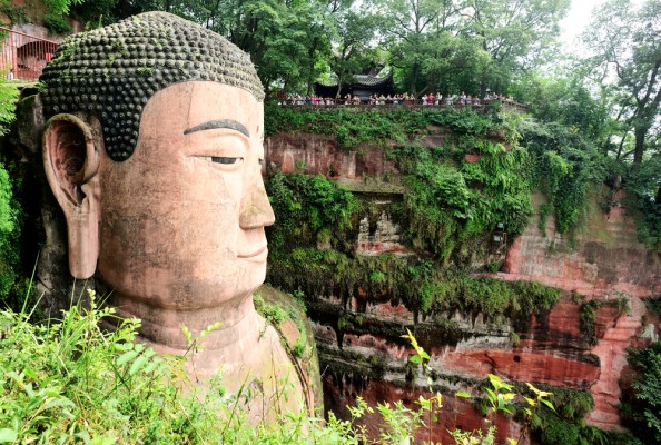
<instances>
[{"instance_id":1,"label":"giant stone Buddha statue, its head, neck and shoulder","mask_svg":"<svg viewBox=\"0 0 661 445\"><path fill-rule=\"evenodd\" d=\"M43 165L67 221L71 275L96 274L118 314L140 318L140 335L160 350L188 349L182 326L198 336L219 324L191 373L221 370L230 389L257 382L269 399L286 380L295 394L276 408L313 405L251 297L275 218L249 57L148 12L65 41L40 80Z\"/></svg>"}]
</instances>

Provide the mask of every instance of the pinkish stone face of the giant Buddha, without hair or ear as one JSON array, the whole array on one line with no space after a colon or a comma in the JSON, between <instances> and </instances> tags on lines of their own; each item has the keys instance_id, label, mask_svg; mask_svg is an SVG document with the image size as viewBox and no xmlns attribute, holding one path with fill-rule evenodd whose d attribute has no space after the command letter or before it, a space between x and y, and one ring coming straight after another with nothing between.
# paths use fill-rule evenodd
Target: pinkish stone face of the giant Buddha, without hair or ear
<instances>
[{"instance_id":1,"label":"pinkish stone face of the giant Buddha, without hair or ear","mask_svg":"<svg viewBox=\"0 0 661 445\"><path fill-rule=\"evenodd\" d=\"M147 103L130 159L101 155L98 271L148 338L186 347L182 324L234 324L264 281L263 120L243 89L177 83Z\"/></svg>"}]
</instances>

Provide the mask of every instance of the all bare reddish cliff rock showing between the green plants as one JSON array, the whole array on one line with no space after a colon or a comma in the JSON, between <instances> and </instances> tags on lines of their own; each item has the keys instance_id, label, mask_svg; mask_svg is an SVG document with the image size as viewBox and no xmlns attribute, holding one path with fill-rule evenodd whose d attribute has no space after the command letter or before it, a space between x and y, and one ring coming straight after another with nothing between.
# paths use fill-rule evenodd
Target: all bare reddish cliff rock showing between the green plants
<instances>
[{"instance_id":1,"label":"all bare reddish cliff rock showing between the green plants","mask_svg":"<svg viewBox=\"0 0 661 445\"><path fill-rule=\"evenodd\" d=\"M434 146L443 138L435 135L422 146ZM266 156L267 165L284 172L326 175L364 199L378 201L382 211L376 222L357 221L356 255L413 255L392 218L401 190L374 180L398 175L382 148L344 150L327 137L277 135L268 139ZM436 439L447 442L448 428L485 427L485 418L453 394L474 388L490 373L588 390L594 398L588 423L620 429L619 382L630 372L625 349L655 337L657 324L643 326L644 319L657 319L647 314L644 299L661 294L659 253L635 240L634 222L621 207L622 199L618 191L608 215L593 199L584 229L573 239L556 235L552 218L542 233L534 216L505 249L483 258L482 264L502 260L501 270L489 274L496 279L540 281L564 291L550 310L525 319L485 320L480 314L460 312L425 317L402 301L383 301L359 291L348 299L314 296L308 316L314 322L322 369L326 369L326 407L346 414L344 406L357 396L374 403L402 399L414 406L420 395L428 395L423 389L427 388L425 379L408 364L412 348L399 338L411 328L432 356L432 389L446 395L444 414L433 426ZM533 197L535 209L543 202L543 196ZM366 423L376 425L375 418ZM516 423L505 418L496 423L501 438L517 437Z\"/></svg>"}]
</instances>

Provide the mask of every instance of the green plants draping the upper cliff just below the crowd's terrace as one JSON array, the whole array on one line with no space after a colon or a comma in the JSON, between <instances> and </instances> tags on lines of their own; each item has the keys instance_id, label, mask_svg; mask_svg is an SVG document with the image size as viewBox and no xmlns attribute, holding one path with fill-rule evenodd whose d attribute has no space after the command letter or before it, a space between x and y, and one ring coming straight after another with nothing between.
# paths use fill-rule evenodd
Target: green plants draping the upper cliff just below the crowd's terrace
<instances>
[{"instance_id":1,"label":"green plants draping the upper cliff just below the crowd's terrace","mask_svg":"<svg viewBox=\"0 0 661 445\"><path fill-rule=\"evenodd\" d=\"M618 172L568 127L501 113L497 108L491 113L467 108L357 112L270 105L266 116L267 134L323 134L346 148L382 145L408 188L406 214L416 229L408 235L421 237L421 247L445 249L440 253L445 260L453 250L448 245L491 231L497 222L514 236L520 234L532 214L530 195L535 189L549 198L556 230L571 231L585 211L590 185L603 184ZM417 144L430 128L448 131L444 146L424 149ZM395 148L388 149L392 144ZM465 155L481 158L468 162Z\"/></svg>"}]
</instances>

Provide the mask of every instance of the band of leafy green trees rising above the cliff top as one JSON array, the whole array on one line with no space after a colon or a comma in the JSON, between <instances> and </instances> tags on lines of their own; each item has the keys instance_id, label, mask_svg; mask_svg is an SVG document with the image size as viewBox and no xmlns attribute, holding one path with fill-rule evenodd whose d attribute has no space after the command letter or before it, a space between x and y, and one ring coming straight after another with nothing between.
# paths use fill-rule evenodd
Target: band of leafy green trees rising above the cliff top
<instances>
[{"instance_id":1,"label":"band of leafy green trees rising above the cliff top","mask_svg":"<svg viewBox=\"0 0 661 445\"><path fill-rule=\"evenodd\" d=\"M148 10L182 16L247 51L267 98L312 95L324 79L339 93L376 66L388 67L396 90L416 97L514 95L542 132L561 125L568 144L580 136L566 149L545 147L551 158L604 156L610 174L596 176L635 198L645 220L641 240L661 240L659 0L606 0L593 12L581 56L570 59L558 39L570 0L45 2L52 14L70 11L88 27Z\"/></svg>"}]
</instances>

